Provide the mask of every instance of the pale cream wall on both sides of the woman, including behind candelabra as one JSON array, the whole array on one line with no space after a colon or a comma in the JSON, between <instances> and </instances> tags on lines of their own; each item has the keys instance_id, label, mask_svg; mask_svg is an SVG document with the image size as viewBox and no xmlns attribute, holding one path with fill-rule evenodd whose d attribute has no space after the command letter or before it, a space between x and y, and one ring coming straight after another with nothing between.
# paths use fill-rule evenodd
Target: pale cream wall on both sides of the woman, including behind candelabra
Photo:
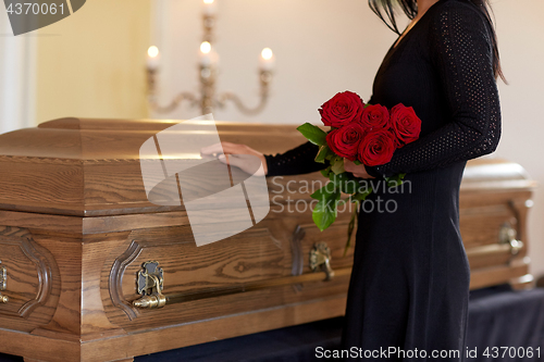
<instances>
[{"instance_id":1,"label":"pale cream wall on both sides of the woman, including behind candelabra","mask_svg":"<svg viewBox=\"0 0 544 362\"><path fill-rule=\"evenodd\" d=\"M197 90L201 41L199 0L162 0L163 100L180 90ZM219 89L232 89L248 102L258 95L257 58L271 47L277 59L273 97L265 111L246 117L233 105L217 120L264 123L318 123L317 109L336 91L350 89L364 99L378 66L396 36L369 10L366 0L218 0ZM544 184L544 2L494 2L504 72L500 85L504 132L496 155L521 163ZM169 117L187 118L183 108ZM530 214L532 271L544 274L544 190Z\"/></svg>"}]
</instances>

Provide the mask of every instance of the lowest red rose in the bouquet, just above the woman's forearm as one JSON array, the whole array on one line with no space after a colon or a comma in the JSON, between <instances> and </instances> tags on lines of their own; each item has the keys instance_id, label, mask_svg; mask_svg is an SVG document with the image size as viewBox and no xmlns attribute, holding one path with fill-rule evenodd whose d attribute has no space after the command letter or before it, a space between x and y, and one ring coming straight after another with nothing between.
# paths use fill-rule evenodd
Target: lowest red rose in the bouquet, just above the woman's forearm
<instances>
[{"instance_id":1,"label":"lowest red rose in the bouquet, just above the woman's forearm","mask_svg":"<svg viewBox=\"0 0 544 362\"><path fill-rule=\"evenodd\" d=\"M367 166L385 164L391 161L395 149L395 135L391 130L371 132L359 145L359 161Z\"/></svg>"}]
</instances>

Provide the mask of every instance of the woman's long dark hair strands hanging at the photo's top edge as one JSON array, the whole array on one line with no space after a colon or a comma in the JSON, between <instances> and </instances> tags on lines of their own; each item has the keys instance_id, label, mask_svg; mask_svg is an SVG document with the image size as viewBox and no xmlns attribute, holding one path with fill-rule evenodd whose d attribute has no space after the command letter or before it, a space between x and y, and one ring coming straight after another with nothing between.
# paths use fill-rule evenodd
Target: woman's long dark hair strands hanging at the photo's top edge
<instances>
[{"instance_id":1,"label":"woman's long dark hair strands hanging at the photo's top edge","mask_svg":"<svg viewBox=\"0 0 544 362\"><path fill-rule=\"evenodd\" d=\"M474 5L487 20L491 29L491 40L493 46L493 72L495 78L500 77L503 82L506 83L503 70L500 68L500 57L498 54L497 46L497 35L495 34L495 27L493 26L493 21L491 18L491 4L489 0L465 0L468 3ZM413 18L418 14L418 3L416 0L369 0L370 9L382 20L382 22L387 25L390 29L395 32L400 36L400 32L397 27L397 22L395 20L394 7L399 5L404 13L409 17ZM385 16L384 16L385 14Z\"/></svg>"}]
</instances>

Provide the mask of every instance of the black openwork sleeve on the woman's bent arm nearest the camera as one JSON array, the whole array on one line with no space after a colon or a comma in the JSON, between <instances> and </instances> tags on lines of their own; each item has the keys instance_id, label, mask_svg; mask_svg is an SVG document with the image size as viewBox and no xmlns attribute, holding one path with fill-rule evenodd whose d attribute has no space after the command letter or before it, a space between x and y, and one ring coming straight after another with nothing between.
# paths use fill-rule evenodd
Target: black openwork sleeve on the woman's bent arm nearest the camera
<instances>
[{"instance_id":1,"label":"black openwork sleeve on the woman's bent arm nearest the camera","mask_svg":"<svg viewBox=\"0 0 544 362\"><path fill-rule=\"evenodd\" d=\"M491 153L498 145L500 108L487 22L471 5L452 1L430 32L453 122L396 150L391 162L367 167L371 175L442 167Z\"/></svg>"}]
</instances>

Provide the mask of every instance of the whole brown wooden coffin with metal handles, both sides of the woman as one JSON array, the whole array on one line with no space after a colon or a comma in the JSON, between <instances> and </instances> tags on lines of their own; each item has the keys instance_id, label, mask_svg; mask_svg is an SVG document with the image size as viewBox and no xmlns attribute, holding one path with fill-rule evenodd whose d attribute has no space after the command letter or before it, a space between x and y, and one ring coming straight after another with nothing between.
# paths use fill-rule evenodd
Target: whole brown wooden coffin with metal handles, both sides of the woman
<instances>
[{"instance_id":1,"label":"whole brown wooden coffin with metal handles, both sides of the woman","mask_svg":"<svg viewBox=\"0 0 544 362\"><path fill-rule=\"evenodd\" d=\"M140 146L174 124L62 118L0 136L0 352L131 361L344 314L349 210L321 233L304 202L323 177L269 178L264 220L197 247L183 202L149 202L141 177ZM294 126L218 130L265 153L304 141ZM471 287L531 282L532 187L517 164L469 163L460 216Z\"/></svg>"}]
</instances>

